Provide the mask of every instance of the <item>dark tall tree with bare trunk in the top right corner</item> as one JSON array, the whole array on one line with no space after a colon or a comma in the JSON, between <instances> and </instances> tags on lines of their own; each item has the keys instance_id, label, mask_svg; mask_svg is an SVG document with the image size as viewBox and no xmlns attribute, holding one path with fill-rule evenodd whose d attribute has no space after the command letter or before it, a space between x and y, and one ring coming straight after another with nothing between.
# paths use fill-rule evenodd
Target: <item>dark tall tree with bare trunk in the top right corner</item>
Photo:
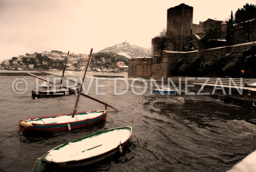
<instances>
[{"instance_id":1,"label":"dark tall tree with bare trunk in the top right corner","mask_svg":"<svg viewBox=\"0 0 256 172\"><path fill-rule=\"evenodd\" d=\"M246 3L243 8L238 9L236 12L236 23L240 23L242 27L246 28L248 42L251 42L251 31L254 27L251 27L250 20L256 18L256 6Z\"/></svg>"}]
</instances>

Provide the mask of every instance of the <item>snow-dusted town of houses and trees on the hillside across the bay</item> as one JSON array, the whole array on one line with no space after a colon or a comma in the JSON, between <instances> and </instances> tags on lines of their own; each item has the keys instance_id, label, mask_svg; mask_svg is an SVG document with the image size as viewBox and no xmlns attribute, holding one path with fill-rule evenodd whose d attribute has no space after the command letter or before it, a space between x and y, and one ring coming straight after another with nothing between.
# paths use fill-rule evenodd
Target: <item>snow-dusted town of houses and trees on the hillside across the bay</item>
<instances>
[{"instance_id":1,"label":"snow-dusted town of houses and trees on the hillside across the bay","mask_svg":"<svg viewBox=\"0 0 256 172\"><path fill-rule=\"evenodd\" d=\"M35 52L34 54L20 55L12 57L10 60L3 60L0 63L0 69L5 70L63 70L66 63L66 70L80 71L84 70L88 62L88 54L74 54L68 52L54 51L51 52ZM101 57L99 59L91 58L88 70L95 72L120 72L127 71L128 66L122 61L113 61Z\"/></svg>"}]
</instances>

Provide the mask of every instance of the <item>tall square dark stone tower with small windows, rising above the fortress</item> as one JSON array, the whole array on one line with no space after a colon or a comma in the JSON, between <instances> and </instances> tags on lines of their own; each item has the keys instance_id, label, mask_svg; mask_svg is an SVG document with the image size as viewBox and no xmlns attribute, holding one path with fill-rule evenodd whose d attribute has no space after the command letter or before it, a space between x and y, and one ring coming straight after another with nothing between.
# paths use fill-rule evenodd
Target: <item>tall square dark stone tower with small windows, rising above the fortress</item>
<instances>
[{"instance_id":1,"label":"tall square dark stone tower with small windows, rising above the fortress","mask_svg":"<svg viewBox=\"0 0 256 172\"><path fill-rule=\"evenodd\" d=\"M193 7L184 3L167 9L168 37L174 38L174 51L184 51L187 46L187 37L193 23Z\"/></svg>"}]
</instances>

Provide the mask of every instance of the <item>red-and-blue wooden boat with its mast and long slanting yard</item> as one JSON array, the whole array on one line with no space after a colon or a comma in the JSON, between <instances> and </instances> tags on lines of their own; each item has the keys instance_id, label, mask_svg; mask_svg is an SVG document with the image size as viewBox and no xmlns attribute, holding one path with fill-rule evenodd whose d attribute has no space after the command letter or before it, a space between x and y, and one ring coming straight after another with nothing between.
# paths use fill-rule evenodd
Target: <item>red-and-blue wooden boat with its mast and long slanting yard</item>
<instances>
[{"instance_id":1,"label":"red-and-blue wooden boat with its mast and long slanting yard","mask_svg":"<svg viewBox=\"0 0 256 172\"><path fill-rule=\"evenodd\" d=\"M88 64L90 61L90 57L92 54L92 49L91 49L91 53L89 56L89 60L86 66L86 70L85 70L85 74L88 68ZM84 77L82 79L82 83L84 83L84 79L85 79L85 74ZM46 81L43 78L40 78L38 76L32 75L30 73L28 73L28 75L31 75L33 77L39 78L41 80ZM61 84L57 84L54 82L49 81L52 84L56 84L59 87L62 87L64 89L68 89L70 91L75 92L74 89L72 88L67 88ZM113 109L116 109L112 106L110 106L109 104L107 104L106 102L102 102L100 100L97 100L93 97L90 97L88 95L85 95L83 93L81 93L82 91L82 84L80 85L79 88L79 93L77 94L77 99L76 99L76 103L75 103L75 107L73 109L73 113L69 113L69 114L61 114L61 115L53 115L53 116L44 116L44 117L36 117L36 118L28 118L28 120L23 121L20 120L19 121L19 132L25 132L25 131L36 131L36 132L52 132L52 131L63 131L63 130L71 130L74 128L79 128L79 127L84 127L84 126L89 126L89 125L93 125L96 122L100 122L102 120L106 120L107 118L107 106L111 107ZM92 100L95 100L99 103L102 103L105 105L105 110L103 111L98 111L98 110L93 110L93 111L87 111L87 112L77 112L77 103L78 103L78 99L79 96L83 95L85 97L88 97Z\"/></svg>"}]
</instances>

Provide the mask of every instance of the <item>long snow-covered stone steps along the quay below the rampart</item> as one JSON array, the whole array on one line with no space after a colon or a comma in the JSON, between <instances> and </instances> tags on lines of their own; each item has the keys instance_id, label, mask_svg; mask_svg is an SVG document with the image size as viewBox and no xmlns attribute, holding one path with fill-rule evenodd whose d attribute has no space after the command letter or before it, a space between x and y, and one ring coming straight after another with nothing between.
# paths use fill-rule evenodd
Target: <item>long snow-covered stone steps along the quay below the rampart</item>
<instances>
[{"instance_id":1,"label":"long snow-covered stone steps along the quay below the rampart","mask_svg":"<svg viewBox=\"0 0 256 172\"><path fill-rule=\"evenodd\" d=\"M185 78L187 80L187 83L194 83L194 84L204 84L206 80L207 84L215 84L216 80L219 79L219 81L217 82L217 85L220 85L220 81L222 82L223 85L229 85L229 78L209 78L209 77L171 77L171 80L175 83L179 82L179 79L181 79L181 83L185 83ZM231 79L231 78L230 78ZM240 78L232 78L232 80L235 82L235 84L239 87L241 82L240 82ZM232 80L230 80L231 85L232 84ZM249 80L252 79L242 79L242 85L244 87L244 83L248 82ZM252 81L253 82L253 81ZM256 81L255 81L256 82ZM250 82L251 83L251 82ZM254 82L253 82L254 83Z\"/></svg>"}]
</instances>

